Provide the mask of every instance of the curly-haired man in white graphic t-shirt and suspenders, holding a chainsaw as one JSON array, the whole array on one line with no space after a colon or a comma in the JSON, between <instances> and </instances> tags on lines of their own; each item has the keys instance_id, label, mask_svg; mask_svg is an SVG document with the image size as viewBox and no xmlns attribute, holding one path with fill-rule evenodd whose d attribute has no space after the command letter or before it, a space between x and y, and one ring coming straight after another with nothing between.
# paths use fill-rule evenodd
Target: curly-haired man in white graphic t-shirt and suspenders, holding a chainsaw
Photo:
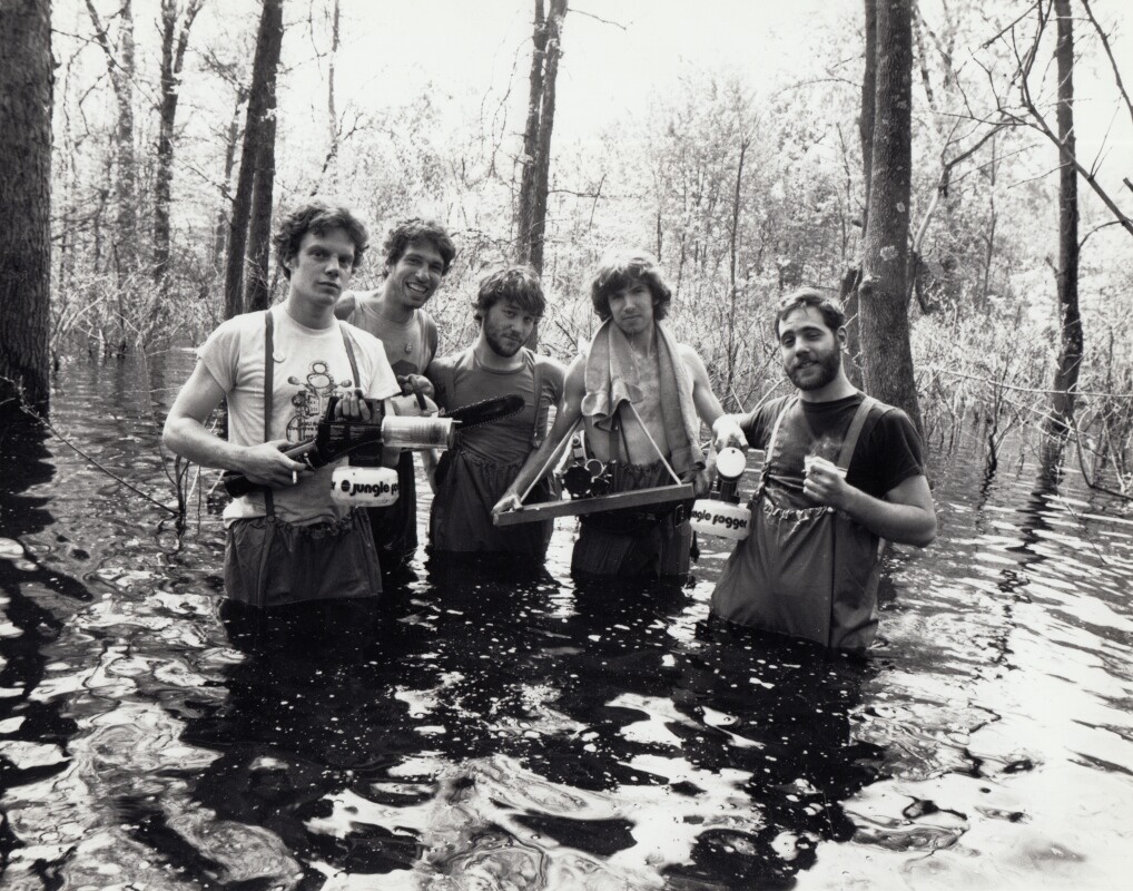
<instances>
[{"instance_id":1,"label":"curly-haired man in white graphic t-shirt and suspenders, holding a chainsaw","mask_svg":"<svg viewBox=\"0 0 1133 891\"><path fill-rule=\"evenodd\" d=\"M332 396L347 417L368 418L361 397L385 400L386 411L417 414L416 400L400 397L381 342L334 317L367 237L344 207L312 202L286 215L273 239L286 299L210 334L165 421L170 450L263 486L224 510L225 594L250 606L374 597L382 589L365 512L331 499L334 467L312 470L280 450L314 436ZM228 441L204 426L222 398Z\"/></svg>"}]
</instances>

